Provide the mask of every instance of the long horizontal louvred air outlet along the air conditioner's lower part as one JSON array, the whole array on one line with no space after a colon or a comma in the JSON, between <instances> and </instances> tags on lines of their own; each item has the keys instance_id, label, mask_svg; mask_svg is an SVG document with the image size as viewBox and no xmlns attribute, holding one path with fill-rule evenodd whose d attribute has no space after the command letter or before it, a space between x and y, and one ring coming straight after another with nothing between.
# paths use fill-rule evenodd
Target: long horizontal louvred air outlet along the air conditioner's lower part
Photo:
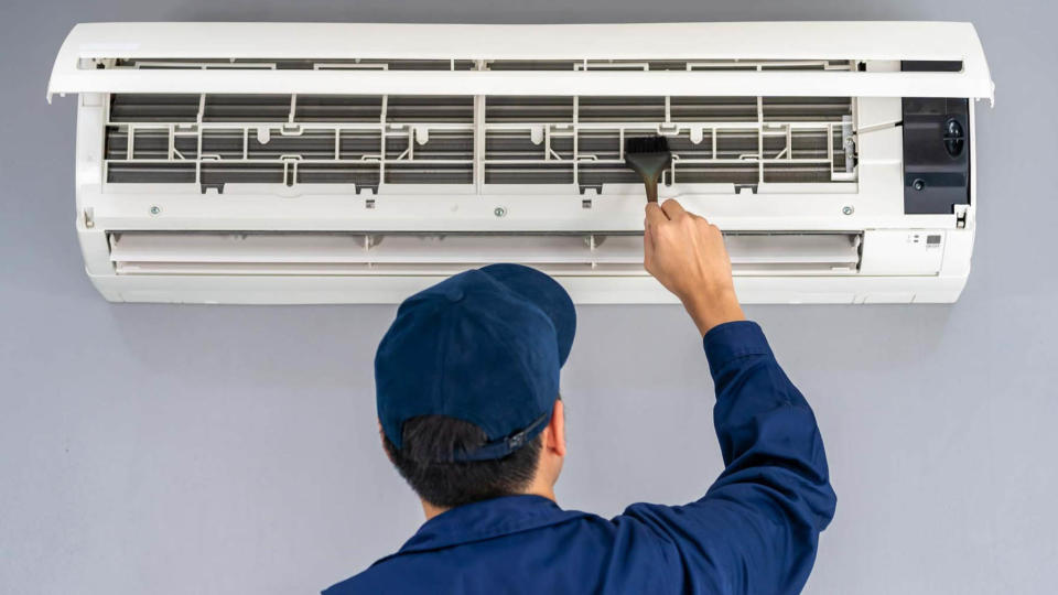
<instances>
[{"instance_id":1,"label":"long horizontal louvred air outlet along the air conditioner's lower part","mask_svg":"<svg viewBox=\"0 0 1058 595\"><path fill-rule=\"evenodd\" d=\"M854 274L860 234L728 234L736 274ZM110 236L119 274L451 272L490 261L643 275L643 237L600 234L168 232Z\"/></svg>"}]
</instances>

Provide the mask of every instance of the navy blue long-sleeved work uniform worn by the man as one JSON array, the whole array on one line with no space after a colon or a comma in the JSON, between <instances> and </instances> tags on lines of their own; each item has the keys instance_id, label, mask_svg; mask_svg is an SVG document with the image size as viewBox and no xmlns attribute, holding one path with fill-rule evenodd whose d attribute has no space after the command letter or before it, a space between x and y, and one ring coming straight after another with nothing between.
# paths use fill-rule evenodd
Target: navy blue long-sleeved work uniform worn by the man
<instances>
[{"instance_id":1,"label":"navy blue long-sleeved work uniform worn by the man","mask_svg":"<svg viewBox=\"0 0 1058 595\"><path fill-rule=\"evenodd\" d=\"M816 418L756 323L703 343L725 468L700 500L609 520L539 496L483 500L324 594L799 593L836 502Z\"/></svg>"}]
</instances>

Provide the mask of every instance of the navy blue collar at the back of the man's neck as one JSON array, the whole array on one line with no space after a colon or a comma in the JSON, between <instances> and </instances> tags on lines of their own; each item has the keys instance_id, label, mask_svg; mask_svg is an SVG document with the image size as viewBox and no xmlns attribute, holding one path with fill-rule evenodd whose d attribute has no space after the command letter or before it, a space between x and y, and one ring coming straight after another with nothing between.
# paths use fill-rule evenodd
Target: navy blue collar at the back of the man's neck
<instances>
[{"instance_id":1,"label":"navy blue collar at the back of the man's neck","mask_svg":"<svg viewBox=\"0 0 1058 595\"><path fill-rule=\"evenodd\" d=\"M562 510L553 500L542 496L504 496L482 500L446 510L428 520L396 554L382 560L528 531L586 515L579 510Z\"/></svg>"}]
</instances>

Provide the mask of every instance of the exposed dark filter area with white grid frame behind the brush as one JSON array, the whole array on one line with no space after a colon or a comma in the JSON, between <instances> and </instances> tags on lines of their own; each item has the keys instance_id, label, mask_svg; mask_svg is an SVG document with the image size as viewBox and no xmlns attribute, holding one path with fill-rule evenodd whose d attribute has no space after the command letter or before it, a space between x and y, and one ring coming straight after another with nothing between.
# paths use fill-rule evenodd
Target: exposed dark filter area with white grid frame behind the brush
<instances>
[{"instance_id":1,"label":"exposed dark filter area with white grid frame behind the brush","mask_svg":"<svg viewBox=\"0 0 1058 595\"><path fill-rule=\"evenodd\" d=\"M637 182L624 140L658 133L673 151L666 184L856 178L849 97L114 94L107 105L105 180L116 184L603 194Z\"/></svg>"}]
</instances>

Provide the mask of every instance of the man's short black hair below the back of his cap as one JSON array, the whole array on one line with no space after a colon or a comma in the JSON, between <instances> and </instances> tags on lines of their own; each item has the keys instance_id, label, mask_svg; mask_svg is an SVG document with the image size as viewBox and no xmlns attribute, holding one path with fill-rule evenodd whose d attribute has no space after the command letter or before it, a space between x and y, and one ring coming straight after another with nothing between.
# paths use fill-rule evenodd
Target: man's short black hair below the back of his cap
<instances>
[{"instance_id":1,"label":"man's short black hair below the back of his cap","mask_svg":"<svg viewBox=\"0 0 1058 595\"><path fill-rule=\"evenodd\" d=\"M404 422L401 447L382 434L390 461L420 498L440 508L520 494L532 482L543 439L537 435L509 455L490 461L454 461L488 436L478 425L447 415L421 415Z\"/></svg>"}]
</instances>

